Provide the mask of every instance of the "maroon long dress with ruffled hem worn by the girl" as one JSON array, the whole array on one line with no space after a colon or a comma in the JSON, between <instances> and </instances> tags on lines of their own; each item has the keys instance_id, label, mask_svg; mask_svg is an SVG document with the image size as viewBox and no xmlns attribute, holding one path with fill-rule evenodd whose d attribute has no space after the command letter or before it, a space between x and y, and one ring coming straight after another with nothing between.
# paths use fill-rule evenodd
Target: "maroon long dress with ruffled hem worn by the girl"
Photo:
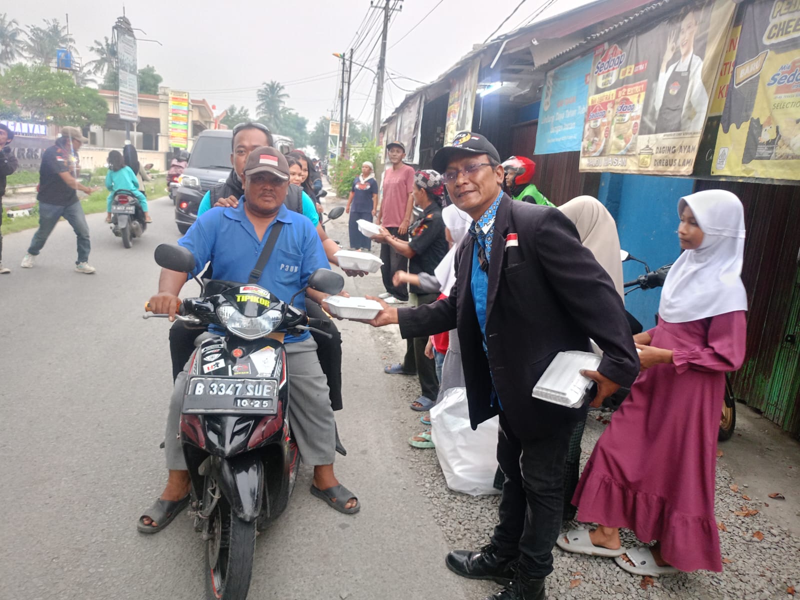
<instances>
[{"instance_id":1,"label":"maroon long dress with ruffled hem worn by the girl","mask_svg":"<svg viewBox=\"0 0 800 600\"><path fill-rule=\"evenodd\" d=\"M659 322L651 346L674 364L639 375L600 436L572 503L578 520L661 542L683 571L721 571L714 518L717 435L725 371L742 366L743 310L686 323Z\"/></svg>"}]
</instances>

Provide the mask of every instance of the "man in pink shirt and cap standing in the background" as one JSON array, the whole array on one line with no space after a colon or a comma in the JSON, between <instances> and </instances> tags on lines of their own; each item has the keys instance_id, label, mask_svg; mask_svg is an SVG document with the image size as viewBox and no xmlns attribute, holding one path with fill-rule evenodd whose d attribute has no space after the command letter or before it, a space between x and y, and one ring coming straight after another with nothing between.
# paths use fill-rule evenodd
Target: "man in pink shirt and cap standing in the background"
<instances>
[{"instance_id":1,"label":"man in pink shirt and cap standing in the background","mask_svg":"<svg viewBox=\"0 0 800 600\"><path fill-rule=\"evenodd\" d=\"M401 142L391 142L386 146L391 167L383 175L383 200L378 210L378 223L386 227L390 234L408 240L408 226L411 211L414 210L414 167L402 162L406 158L406 147ZM389 244L381 245L381 274L386 294L382 298L390 304L408 302L408 288L405 284L395 286L392 277L397 271L408 270L408 258L398 254Z\"/></svg>"}]
</instances>

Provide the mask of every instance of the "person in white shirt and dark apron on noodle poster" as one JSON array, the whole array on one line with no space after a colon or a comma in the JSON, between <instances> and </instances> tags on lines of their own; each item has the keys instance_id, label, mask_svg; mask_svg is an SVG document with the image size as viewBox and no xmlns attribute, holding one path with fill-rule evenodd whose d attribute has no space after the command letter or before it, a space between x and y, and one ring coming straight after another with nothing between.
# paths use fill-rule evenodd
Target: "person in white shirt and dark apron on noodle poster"
<instances>
[{"instance_id":1,"label":"person in white shirt and dark apron on noodle poster","mask_svg":"<svg viewBox=\"0 0 800 600\"><path fill-rule=\"evenodd\" d=\"M702 58L694 54L698 20L697 12L684 10L680 32L672 31L666 42L654 94L657 134L700 131L706 119L708 93L702 83ZM681 58L667 66L676 50L680 51Z\"/></svg>"}]
</instances>

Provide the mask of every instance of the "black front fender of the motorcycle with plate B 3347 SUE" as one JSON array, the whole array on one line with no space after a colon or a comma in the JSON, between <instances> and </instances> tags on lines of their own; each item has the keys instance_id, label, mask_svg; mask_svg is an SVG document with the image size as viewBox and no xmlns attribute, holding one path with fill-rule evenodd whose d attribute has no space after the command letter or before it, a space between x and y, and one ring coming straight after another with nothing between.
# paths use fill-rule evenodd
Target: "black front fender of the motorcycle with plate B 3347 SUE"
<instances>
[{"instance_id":1,"label":"black front fender of the motorcycle with plate B 3347 SUE","mask_svg":"<svg viewBox=\"0 0 800 600\"><path fill-rule=\"evenodd\" d=\"M234 514L246 523L254 522L261 512L264 490L264 467L255 454L234 458L212 458L211 473Z\"/></svg>"}]
</instances>

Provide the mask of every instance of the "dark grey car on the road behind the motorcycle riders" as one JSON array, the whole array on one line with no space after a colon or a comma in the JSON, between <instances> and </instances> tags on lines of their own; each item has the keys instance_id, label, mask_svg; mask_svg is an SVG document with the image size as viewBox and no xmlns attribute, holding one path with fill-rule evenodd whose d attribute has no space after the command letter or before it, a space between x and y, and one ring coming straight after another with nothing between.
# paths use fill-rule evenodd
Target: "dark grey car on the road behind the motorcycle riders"
<instances>
[{"instance_id":1,"label":"dark grey car on the road behind the motorcycle riders","mask_svg":"<svg viewBox=\"0 0 800 600\"><path fill-rule=\"evenodd\" d=\"M182 234L198 218L202 197L230 173L231 130L205 130L194 142L189 164L175 188L175 223Z\"/></svg>"}]
</instances>

